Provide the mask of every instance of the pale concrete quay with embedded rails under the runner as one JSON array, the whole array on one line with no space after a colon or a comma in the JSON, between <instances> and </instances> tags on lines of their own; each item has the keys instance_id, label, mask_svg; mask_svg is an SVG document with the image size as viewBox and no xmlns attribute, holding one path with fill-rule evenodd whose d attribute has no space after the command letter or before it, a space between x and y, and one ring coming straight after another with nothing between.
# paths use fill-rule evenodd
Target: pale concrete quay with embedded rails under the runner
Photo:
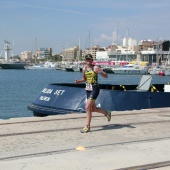
<instances>
[{"instance_id":1,"label":"pale concrete quay with embedded rails under the runner","mask_svg":"<svg viewBox=\"0 0 170 170\"><path fill-rule=\"evenodd\" d=\"M0 119L0 170L170 170L170 108Z\"/></svg>"}]
</instances>

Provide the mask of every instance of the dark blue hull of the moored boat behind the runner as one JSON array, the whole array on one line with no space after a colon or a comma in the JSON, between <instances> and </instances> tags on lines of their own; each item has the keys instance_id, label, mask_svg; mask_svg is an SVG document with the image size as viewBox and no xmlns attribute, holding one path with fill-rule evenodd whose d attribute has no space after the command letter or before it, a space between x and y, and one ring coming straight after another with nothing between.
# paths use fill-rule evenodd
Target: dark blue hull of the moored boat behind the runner
<instances>
[{"instance_id":1,"label":"dark blue hull of the moored boat behind the runner","mask_svg":"<svg viewBox=\"0 0 170 170\"><path fill-rule=\"evenodd\" d=\"M97 107L111 111L140 110L170 107L169 92L112 90L112 85L101 85ZM84 85L49 84L27 108L35 116L85 112Z\"/></svg>"}]
</instances>

